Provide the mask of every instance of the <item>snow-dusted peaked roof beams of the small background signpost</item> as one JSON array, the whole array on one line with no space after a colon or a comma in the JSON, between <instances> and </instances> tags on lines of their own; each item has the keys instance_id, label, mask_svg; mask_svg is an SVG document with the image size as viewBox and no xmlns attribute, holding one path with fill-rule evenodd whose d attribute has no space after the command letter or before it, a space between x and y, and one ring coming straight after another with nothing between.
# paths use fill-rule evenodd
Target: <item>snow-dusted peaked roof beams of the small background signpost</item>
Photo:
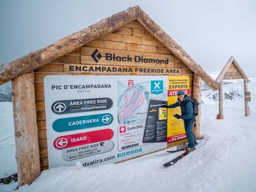
<instances>
[{"instance_id":1,"label":"snow-dusted peaked roof beams of the small background signpost","mask_svg":"<svg viewBox=\"0 0 256 192\"><path fill-rule=\"evenodd\" d=\"M216 78L216 82L220 83L221 80L223 80L225 73L227 72L227 70L229 69L229 67L231 66L231 64L234 64L234 66L236 67L236 69L241 73L242 78L247 79L247 82L249 82L249 78L247 77L247 75L245 74L244 70L242 70L241 66L237 63L236 59L234 59L233 56L231 56L228 60L228 62L226 63L226 65L224 66L223 70L221 71L220 75Z\"/></svg>"}]
</instances>

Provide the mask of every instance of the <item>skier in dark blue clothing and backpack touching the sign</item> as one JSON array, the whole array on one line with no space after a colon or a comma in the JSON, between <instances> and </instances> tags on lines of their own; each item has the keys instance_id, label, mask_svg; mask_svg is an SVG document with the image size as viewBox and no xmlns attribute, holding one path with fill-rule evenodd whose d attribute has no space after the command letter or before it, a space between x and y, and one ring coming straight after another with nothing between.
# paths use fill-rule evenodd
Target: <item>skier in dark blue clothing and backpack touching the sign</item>
<instances>
[{"instance_id":1,"label":"skier in dark blue clothing and backpack touching the sign","mask_svg":"<svg viewBox=\"0 0 256 192\"><path fill-rule=\"evenodd\" d=\"M187 133L187 138L189 140L186 152L189 153L195 149L195 144L197 144L197 141L195 140L195 135L192 130L195 123L192 99L187 96L184 91L178 91L177 102L167 106L167 108L175 108L177 106L181 106L181 115L175 114L173 116L177 119L184 120L184 127Z\"/></svg>"}]
</instances>

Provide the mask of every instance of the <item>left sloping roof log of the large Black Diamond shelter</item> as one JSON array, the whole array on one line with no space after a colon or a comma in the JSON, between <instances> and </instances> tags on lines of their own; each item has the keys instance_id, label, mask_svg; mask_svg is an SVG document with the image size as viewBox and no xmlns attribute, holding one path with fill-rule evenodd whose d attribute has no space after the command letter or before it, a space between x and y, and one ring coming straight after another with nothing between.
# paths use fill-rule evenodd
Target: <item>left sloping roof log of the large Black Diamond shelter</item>
<instances>
[{"instance_id":1,"label":"left sloping roof log of the large Black Diamond shelter","mask_svg":"<svg viewBox=\"0 0 256 192\"><path fill-rule=\"evenodd\" d=\"M54 59L77 49L100 36L110 33L137 18L139 6L130 7L127 10L101 20L83 30L56 41L46 48L31 52L15 61L0 66L0 85L22 74L31 72L48 64Z\"/></svg>"}]
</instances>

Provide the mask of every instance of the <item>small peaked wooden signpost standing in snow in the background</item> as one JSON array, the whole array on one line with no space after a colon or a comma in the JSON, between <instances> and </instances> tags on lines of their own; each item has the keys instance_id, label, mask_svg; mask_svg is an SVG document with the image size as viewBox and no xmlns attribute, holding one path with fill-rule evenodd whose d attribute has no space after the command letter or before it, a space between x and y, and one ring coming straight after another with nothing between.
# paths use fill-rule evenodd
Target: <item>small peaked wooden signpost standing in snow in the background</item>
<instances>
[{"instance_id":1,"label":"small peaked wooden signpost standing in snow in the background","mask_svg":"<svg viewBox=\"0 0 256 192\"><path fill-rule=\"evenodd\" d=\"M219 114L217 115L217 119L223 119L223 80L236 80L236 79L244 79L244 105L245 105L245 116L250 115L249 112L249 104L250 101L250 92L248 92L247 82L249 82L249 78L245 74L244 70L240 67L234 57L230 57L229 61L224 66L218 78L216 78L216 82L219 83Z\"/></svg>"}]
</instances>

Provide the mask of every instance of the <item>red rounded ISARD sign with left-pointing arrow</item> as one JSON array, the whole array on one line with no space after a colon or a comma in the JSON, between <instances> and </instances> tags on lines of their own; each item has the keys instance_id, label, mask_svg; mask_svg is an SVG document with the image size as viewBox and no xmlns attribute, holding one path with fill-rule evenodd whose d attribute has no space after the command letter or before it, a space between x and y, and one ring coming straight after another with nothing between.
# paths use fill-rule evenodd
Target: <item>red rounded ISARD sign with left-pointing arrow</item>
<instances>
[{"instance_id":1,"label":"red rounded ISARD sign with left-pointing arrow","mask_svg":"<svg viewBox=\"0 0 256 192\"><path fill-rule=\"evenodd\" d=\"M113 130L106 128L104 130L90 131L86 133L77 133L74 135L59 136L53 141L56 149L72 148L83 144L90 144L99 141L110 140L113 137Z\"/></svg>"}]
</instances>

